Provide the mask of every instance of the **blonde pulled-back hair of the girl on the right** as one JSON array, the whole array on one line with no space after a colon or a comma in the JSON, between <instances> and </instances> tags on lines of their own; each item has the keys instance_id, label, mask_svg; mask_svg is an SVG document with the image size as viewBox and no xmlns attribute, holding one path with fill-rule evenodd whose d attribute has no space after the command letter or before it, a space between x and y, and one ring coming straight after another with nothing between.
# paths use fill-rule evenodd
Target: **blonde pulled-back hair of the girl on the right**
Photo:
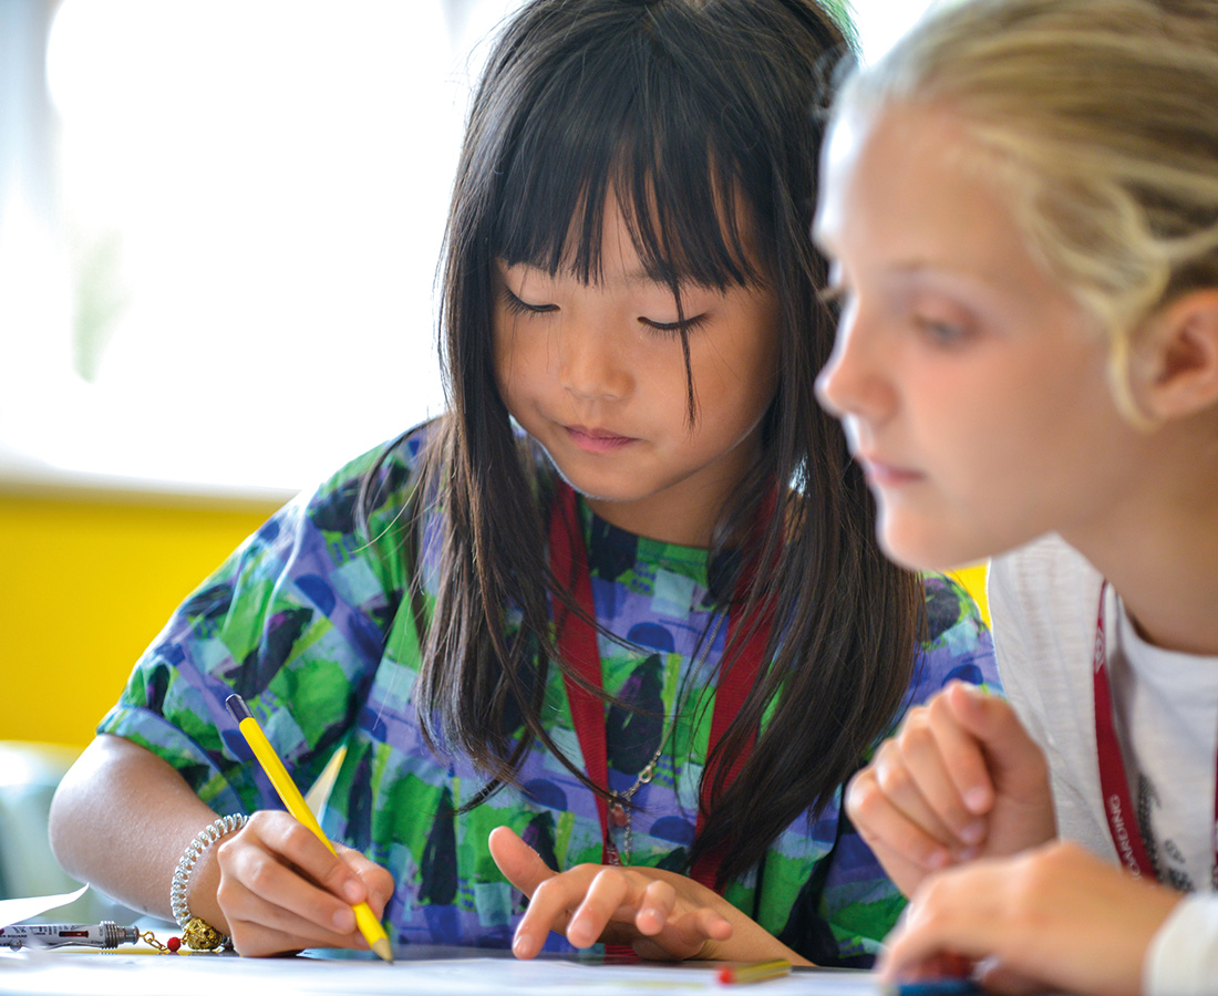
<instances>
[{"instance_id":1,"label":"blonde pulled-back hair of the girl on the right","mask_svg":"<svg viewBox=\"0 0 1218 996\"><path fill-rule=\"evenodd\" d=\"M1218 286L1216 0L961 0L859 69L836 111L949 110L996 155L1029 250L1111 338Z\"/></svg>"}]
</instances>

